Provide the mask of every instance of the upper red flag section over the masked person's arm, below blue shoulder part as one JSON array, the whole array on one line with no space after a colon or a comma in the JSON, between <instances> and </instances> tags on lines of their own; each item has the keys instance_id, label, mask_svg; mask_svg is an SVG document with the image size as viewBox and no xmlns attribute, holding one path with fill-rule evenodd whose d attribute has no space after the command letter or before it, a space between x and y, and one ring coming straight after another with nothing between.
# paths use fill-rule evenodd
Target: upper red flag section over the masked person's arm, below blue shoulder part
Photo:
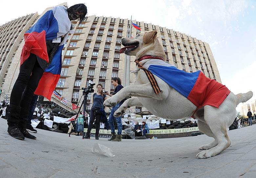
<instances>
[{"instance_id":1,"label":"upper red flag section over the masked person's arm, below blue shoulder part","mask_svg":"<svg viewBox=\"0 0 256 178\"><path fill-rule=\"evenodd\" d=\"M25 44L22 47L20 55L20 65L29 58L30 53L35 54L39 58L45 60L47 63L49 62L44 30L40 33L25 33L24 40Z\"/></svg>"}]
</instances>

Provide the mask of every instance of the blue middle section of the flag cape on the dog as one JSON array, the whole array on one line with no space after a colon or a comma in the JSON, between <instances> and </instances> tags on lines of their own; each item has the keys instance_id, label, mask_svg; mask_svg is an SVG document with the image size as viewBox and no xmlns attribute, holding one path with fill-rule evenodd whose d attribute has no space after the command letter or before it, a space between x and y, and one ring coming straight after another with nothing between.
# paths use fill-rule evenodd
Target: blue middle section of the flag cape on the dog
<instances>
[{"instance_id":1,"label":"blue middle section of the flag cape on the dog","mask_svg":"<svg viewBox=\"0 0 256 178\"><path fill-rule=\"evenodd\" d=\"M174 66L160 65L150 65L148 70L186 98L194 87L200 73L200 71L188 73Z\"/></svg>"}]
</instances>

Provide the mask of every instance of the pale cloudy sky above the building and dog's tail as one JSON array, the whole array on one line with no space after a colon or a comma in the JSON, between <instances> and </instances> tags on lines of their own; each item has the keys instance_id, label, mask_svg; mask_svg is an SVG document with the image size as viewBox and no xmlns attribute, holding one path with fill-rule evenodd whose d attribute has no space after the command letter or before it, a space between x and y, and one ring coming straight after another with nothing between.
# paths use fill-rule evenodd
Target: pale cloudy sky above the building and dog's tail
<instances>
[{"instance_id":1,"label":"pale cloudy sky above the building and dog's tail","mask_svg":"<svg viewBox=\"0 0 256 178\"><path fill-rule=\"evenodd\" d=\"M252 91L252 99L256 99L256 0L3 1L0 16L6 18L0 19L0 25L30 13L41 14L63 2L68 6L85 3L88 16L130 19L132 15L133 20L173 29L208 43L222 83L234 94Z\"/></svg>"}]
</instances>

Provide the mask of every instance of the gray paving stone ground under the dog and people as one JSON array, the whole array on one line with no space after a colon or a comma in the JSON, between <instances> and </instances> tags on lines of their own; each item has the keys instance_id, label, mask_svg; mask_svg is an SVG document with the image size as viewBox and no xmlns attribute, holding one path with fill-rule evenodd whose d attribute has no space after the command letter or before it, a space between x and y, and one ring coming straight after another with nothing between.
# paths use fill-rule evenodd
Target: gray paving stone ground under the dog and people
<instances>
[{"instance_id":1,"label":"gray paving stone ground under the dog and people","mask_svg":"<svg viewBox=\"0 0 256 178\"><path fill-rule=\"evenodd\" d=\"M206 135L181 138L111 142L38 129L37 140L24 141L7 133L0 118L0 177L86 178L254 178L256 177L256 125L228 131L231 146L208 159L197 159ZM93 153L99 143L116 157Z\"/></svg>"}]
</instances>

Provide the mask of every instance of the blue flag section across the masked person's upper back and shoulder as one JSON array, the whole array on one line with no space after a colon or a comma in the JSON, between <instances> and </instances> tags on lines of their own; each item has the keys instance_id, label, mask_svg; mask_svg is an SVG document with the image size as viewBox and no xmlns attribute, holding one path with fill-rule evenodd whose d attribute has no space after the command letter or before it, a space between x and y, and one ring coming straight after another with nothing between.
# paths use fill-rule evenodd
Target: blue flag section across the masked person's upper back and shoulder
<instances>
[{"instance_id":1,"label":"blue flag section across the masked person's upper back and shoulder","mask_svg":"<svg viewBox=\"0 0 256 178\"><path fill-rule=\"evenodd\" d=\"M40 33L43 30L45 30L46 33L46 40L52 40L53 38L57 37L59 27L58 21L53 15L53 10L48 10L26 33Z\"/></svg>"}]
</instances>

